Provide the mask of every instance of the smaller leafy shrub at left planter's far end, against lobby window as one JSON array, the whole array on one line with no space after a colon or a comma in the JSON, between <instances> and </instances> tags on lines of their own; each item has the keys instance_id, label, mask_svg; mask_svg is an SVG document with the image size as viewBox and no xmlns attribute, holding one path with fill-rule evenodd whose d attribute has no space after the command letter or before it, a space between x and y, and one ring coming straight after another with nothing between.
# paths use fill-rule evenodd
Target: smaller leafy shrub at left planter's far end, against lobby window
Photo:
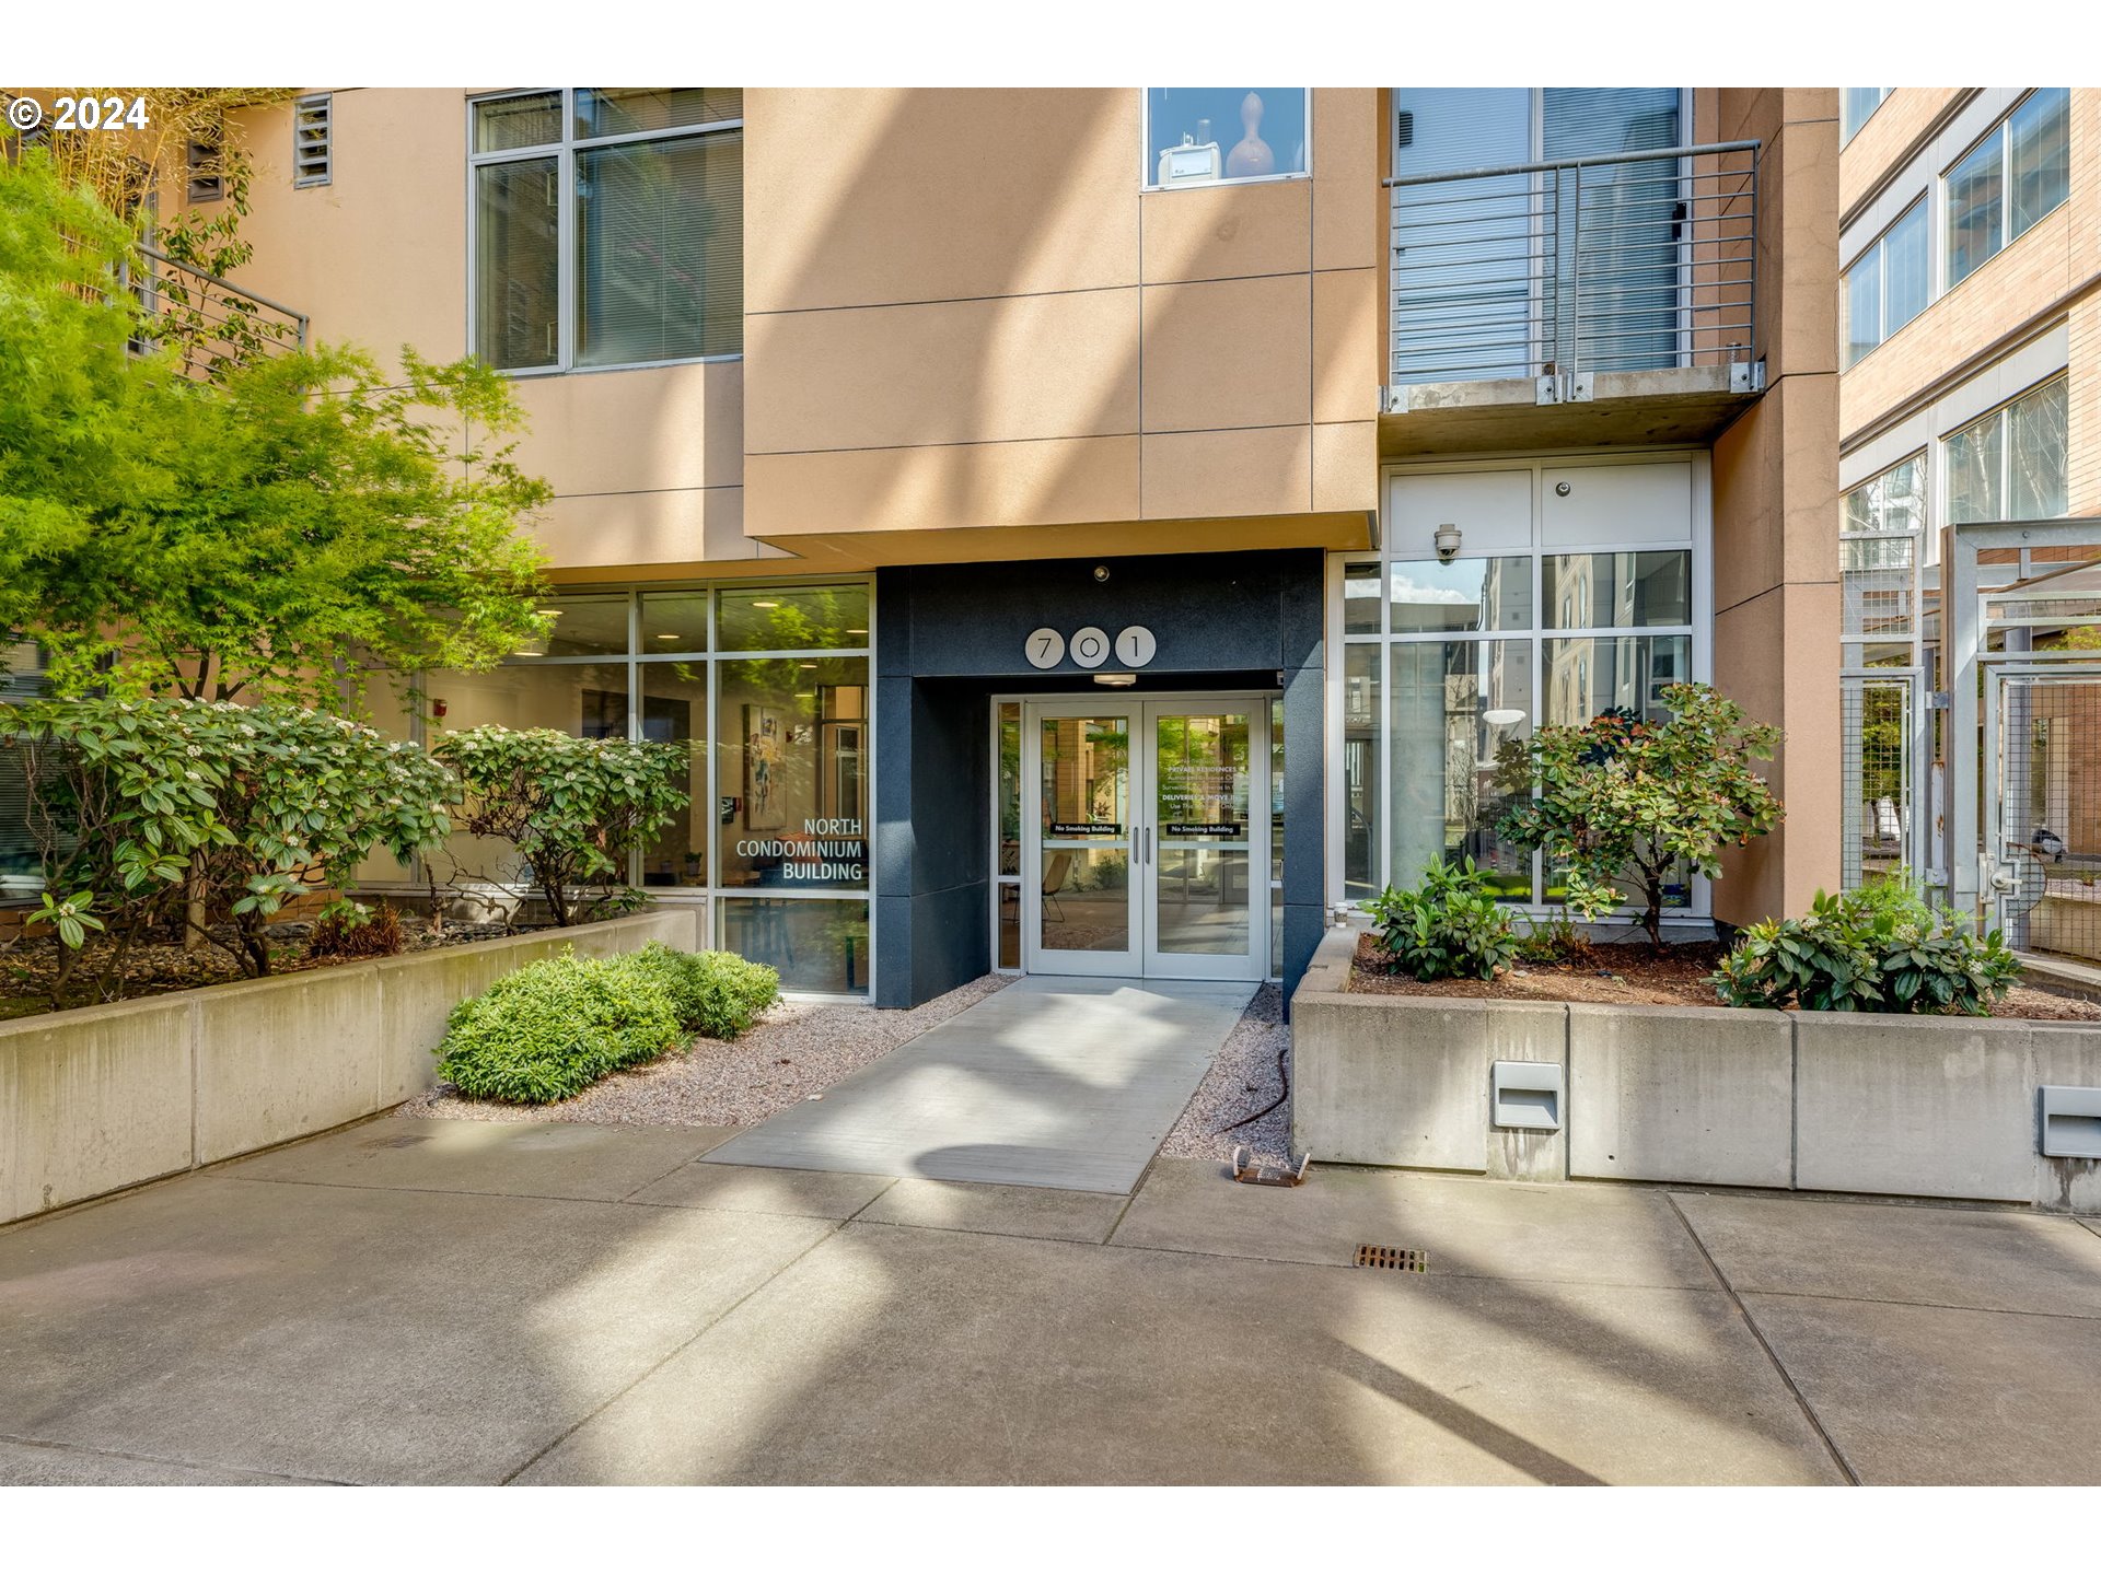
<instances>
[{"instance_id":1,"label":"smaller leafy shrub at left planter's far end, against lobby window","mask_svg":"<svg viewBox=\"0 0 2101 1575\"><path fill-rule=\"evenodd\" d=\"M691 802L679 743L475 727L448 733L435 754L466 790L464 830L517 848L563 926L632 905L628 853Z\"/></svg>"}]
</instances>

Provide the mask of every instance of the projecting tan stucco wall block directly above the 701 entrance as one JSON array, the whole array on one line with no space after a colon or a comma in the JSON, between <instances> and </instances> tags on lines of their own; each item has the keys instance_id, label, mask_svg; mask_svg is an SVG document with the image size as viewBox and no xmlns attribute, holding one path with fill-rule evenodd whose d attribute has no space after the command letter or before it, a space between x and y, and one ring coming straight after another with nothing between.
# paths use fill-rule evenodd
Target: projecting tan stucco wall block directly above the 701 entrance
<instances>
[{"instance_id":1,"label":"projecting tan stucco wall block directly above the 701 entrance","mask_svg":"<svg viewBox=\"0 0 2101 1575\"><path fill-rule=\"evenodd\" d=\"M1313 176L1143 193L1139 90L746 97L746 529L910 561L1374 506L1378 116ZM1145 523L1151 523L1147 527ZM870 538L893 540L870 540ZM1088 536L1099 538L1090 531ZM855 540L864 538L864 540Z\"/></svg>"}]
</instances>

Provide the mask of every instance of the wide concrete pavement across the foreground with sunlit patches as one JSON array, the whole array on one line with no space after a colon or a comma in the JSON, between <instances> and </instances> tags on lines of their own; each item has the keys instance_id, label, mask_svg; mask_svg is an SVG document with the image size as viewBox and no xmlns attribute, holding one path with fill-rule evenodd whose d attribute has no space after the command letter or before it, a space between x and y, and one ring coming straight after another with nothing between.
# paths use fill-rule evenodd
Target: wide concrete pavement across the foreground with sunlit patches
<instances>
[{"instance_id":1,"label":"wide concrete pavement across the foreground with sunlit patches","mask_svg":"<svg viewBox=\"0 0 2101 1575\"><path fill-rule=\"evenodd\" d=\"M2101 1480L2088 1222L729 1136L378 1119L0 1231L0 1483Z\"/></svg>"}]
</instances>

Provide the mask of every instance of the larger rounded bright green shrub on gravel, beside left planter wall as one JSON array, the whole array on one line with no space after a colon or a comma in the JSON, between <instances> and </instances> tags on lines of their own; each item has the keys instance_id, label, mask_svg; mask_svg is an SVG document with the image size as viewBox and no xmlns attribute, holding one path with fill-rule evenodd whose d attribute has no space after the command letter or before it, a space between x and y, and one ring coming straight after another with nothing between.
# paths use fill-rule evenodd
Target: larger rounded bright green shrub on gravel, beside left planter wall
<instances>
[{"instance_id":1,"label":"larger rounded bright green shrub on gravel, beside left planter wall","mask_svg":"<svg viewBox=\"0 0 2101 1575\"><path fill-rule=\"evenodd\" d=\"M469 1098L550 1105L683 1040L679 1008L649 970L563 953L454 1006L437 1075Z\"/></svg>"}]
</instances>

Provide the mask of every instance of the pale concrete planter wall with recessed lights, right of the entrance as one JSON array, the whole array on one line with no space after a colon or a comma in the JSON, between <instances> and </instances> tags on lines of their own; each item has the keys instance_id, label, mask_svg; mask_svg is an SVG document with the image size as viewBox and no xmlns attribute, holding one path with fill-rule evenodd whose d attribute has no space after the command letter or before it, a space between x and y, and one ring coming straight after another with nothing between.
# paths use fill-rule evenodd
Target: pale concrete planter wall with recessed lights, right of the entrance
<instances>
[{"instance_id":1,"label":"pale concrete planter wall with recessed lights, right of the entrance","mask_svg":"<svg viewBox=\"0 0 2101 1575\"><path fill-rule=\"evenodd\" d=\"M1355 943L1292 998L1317 1159L2101 1212L2101 1161L2040 1151L2040 1088L2101 1086L2101 1025L1368 995ZM1559 1132L1490 1124L1496 1060L1565 1069Z\"/></svg>"}]
</instances>

